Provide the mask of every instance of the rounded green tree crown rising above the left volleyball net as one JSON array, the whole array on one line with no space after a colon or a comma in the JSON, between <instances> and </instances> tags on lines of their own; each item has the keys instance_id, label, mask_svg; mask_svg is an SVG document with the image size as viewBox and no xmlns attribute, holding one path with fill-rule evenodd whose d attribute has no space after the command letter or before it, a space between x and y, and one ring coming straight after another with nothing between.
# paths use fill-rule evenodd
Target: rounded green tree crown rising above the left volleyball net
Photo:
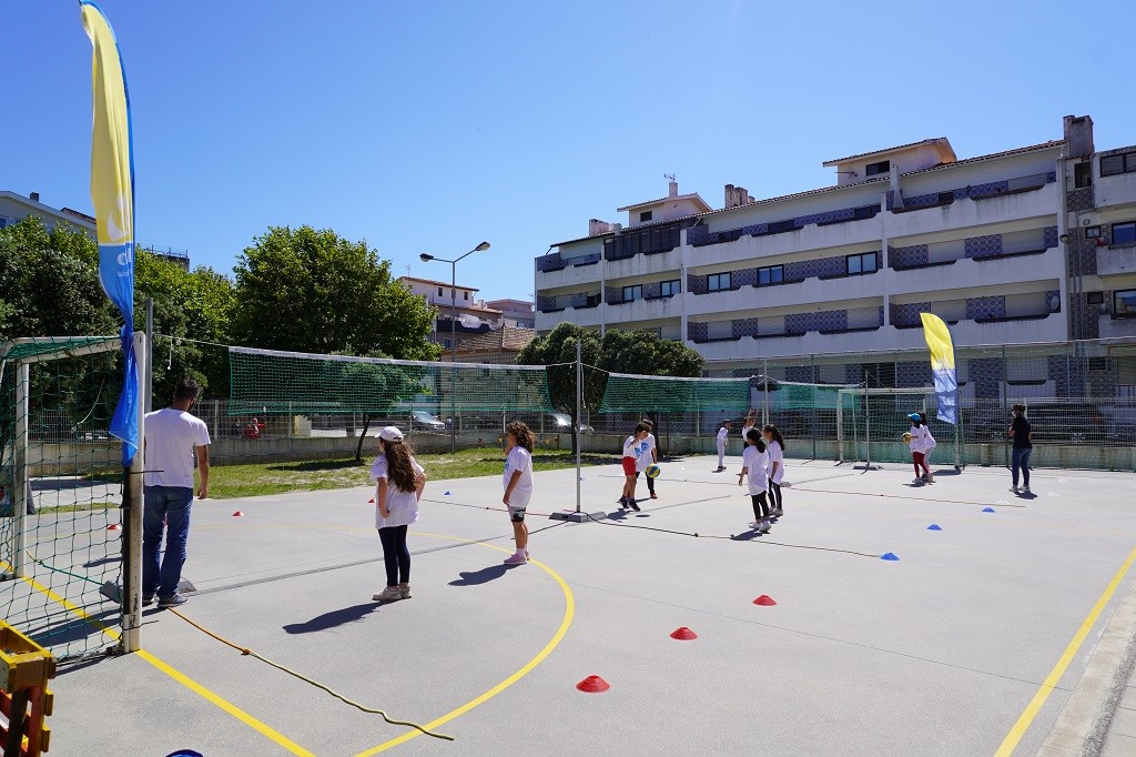
<instances>
[{"instance_id":1,"label":"rounded green tree crown rising above the left volleyball net","mask_svg":"<svg viewBox=\"0 0 1136 757\"><path fill-rule=\"evenodd\" d=\"M237 258L233 338L299 352L432 360L434 311L366 242L275 226Z\"/></svg>"}]
</instances>

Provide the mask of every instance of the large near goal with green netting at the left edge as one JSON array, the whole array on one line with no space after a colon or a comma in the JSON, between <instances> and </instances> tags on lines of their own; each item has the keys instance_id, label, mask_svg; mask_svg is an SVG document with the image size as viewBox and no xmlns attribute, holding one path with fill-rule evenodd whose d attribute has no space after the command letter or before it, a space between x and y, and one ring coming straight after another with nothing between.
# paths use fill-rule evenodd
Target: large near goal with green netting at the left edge
<instances>
[{"instance_id":1,"label":"large near goal with green netting at the left edge","mask_svg":"<svg viewBox=\"0 0 1136 757\"><path fill-rule=\"evenodd\" d=\"M0 346L0 607L57 660L118 647L118 336Z\"/></svg>"}]
</instances>

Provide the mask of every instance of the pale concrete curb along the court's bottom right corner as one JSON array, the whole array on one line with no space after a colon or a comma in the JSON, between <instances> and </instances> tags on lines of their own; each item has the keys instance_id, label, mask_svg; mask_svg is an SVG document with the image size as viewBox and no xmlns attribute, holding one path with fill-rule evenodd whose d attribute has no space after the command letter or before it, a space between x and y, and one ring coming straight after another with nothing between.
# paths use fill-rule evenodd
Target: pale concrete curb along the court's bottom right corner
<instances>
[{"instance_id":1,"label":"pale concrete curb along the court's bottom right corner","mask_svg":"<svg viewBox=\"0 0 1136 757\"><path fill-rule=\"evenodd\" d=\"M1136 664L1136 582L1112 613L1038 757L1100 755Z\"/></svg>"}]
</instances>

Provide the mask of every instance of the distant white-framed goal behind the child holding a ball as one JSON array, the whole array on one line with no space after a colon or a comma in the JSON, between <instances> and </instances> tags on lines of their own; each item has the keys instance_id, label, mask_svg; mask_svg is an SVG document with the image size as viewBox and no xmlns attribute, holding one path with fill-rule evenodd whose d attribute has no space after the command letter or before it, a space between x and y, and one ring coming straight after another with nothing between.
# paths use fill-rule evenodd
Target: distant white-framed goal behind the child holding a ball
<instances>
[{"instance_id":1,"label":"distant white-framed goal behind the child holding a ball","mask_svg":"<svg viewBox=\"0 0 1136 757\"><path fill-rule=\"evenodd\" d=\"M837 411L837 459L841 463L863 463L869 467L882 463L910 464L911 450L903 441L903 433L911 425L908 415L922 413L937 442L932 463L961 468L966 465L962 414L959 414L960 424L952 426L936 419L937 410L938 402L932 386L842 389Z\"/></svg>"}]
</instances>

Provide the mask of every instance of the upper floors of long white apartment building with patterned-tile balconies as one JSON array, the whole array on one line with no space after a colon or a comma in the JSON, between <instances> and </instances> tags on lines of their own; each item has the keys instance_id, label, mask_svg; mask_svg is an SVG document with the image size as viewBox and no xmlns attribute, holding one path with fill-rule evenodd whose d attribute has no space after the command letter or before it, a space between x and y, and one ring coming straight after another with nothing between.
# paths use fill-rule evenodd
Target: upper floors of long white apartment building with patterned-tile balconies
<instances>
[{"instance_id":1,"label":"upper floors of long white apartment building with patterned-tile balconies","mask_svg":"<svg viewBox=\"0 0 1136 757\"><path fill-rule=\"evenodd\" d=\"M536 259L537 332L650 328L715 374L920 348L920 311L960 346L1136 335L1136 147L1095 151L1091 117L992 155L935 138L824 165L832 186L727 184L711 209L671 182L626 223L592 219Z\"/></svg>"}]
</instances>

